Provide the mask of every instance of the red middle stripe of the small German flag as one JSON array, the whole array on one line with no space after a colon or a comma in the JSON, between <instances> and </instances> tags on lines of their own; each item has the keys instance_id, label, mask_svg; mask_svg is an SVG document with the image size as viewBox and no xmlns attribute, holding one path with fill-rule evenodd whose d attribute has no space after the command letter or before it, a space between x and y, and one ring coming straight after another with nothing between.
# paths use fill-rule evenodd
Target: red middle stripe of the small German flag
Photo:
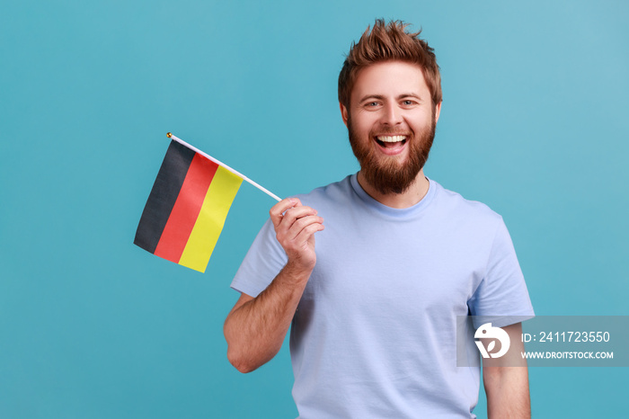
<instances>
[{"instance_id":1,"label":"red middle stripe of the small German flag","mask_svg":"<svg viewBox=\"0 0 629 419\"><path fill-rule=\"evenodd\" d=\"M192 158L182 190L155 248L156 256L179 263L217 168L216 163L204 156L196 154Z\"/></svg>"}]
</instances>

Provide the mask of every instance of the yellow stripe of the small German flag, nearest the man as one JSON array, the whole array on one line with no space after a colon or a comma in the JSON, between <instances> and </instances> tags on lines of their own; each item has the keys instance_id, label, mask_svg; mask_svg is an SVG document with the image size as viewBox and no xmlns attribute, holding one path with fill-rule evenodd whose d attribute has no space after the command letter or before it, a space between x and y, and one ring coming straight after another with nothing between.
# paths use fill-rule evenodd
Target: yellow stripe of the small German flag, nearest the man
<instances>
[{"instance_id":1,"label":"yellow stripe of the small German flag, nearest the man","mask_svg":"<svg viewBox=\"0 0 629 419\"><path fill-rule=\"evenodd\" d=\"M227 212L232 206L241 183L243 183L241 177L218 166L179 264L195 271L205 272L209 256L217 245L218 236L225 225Z\"/></svg>"}]
</instances>

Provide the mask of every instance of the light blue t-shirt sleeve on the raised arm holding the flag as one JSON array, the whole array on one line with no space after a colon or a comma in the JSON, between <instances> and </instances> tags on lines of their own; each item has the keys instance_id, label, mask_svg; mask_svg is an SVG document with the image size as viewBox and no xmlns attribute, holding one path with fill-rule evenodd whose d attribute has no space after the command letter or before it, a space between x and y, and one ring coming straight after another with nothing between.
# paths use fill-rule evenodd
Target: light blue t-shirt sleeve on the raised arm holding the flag
<instances>
[{"instance_id":1,"label":"light blue t-shirt sleeve on the raised arm holding the flag","mask_svg":"<svg viewBox=\"0 0 629 419\"><path fill-rule=\"evenodd\" d=\"M287 262L288 257L275 237L275 228L269 218L244 256L231 287L257 297Z\"/></svg>"}]
</instances>

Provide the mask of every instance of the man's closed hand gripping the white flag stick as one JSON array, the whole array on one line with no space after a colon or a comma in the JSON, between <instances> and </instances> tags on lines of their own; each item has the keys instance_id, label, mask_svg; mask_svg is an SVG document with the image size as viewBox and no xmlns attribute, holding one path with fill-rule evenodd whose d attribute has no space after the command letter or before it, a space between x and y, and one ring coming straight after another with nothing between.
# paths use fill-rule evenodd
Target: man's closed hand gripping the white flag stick
<instances>
[{"instance_id":1,"label":"man's closed hand gripping the white flag stick","mask_svg":"<svg viewBox=\"0 0 629 419\"><path fill-rule=\"evenodd\" d=\"M316 263L314 233L323 230L323 218L297 198L279 201L269 211L279 244L294 268L312 271Z\"/></svg>"}]
</instances>

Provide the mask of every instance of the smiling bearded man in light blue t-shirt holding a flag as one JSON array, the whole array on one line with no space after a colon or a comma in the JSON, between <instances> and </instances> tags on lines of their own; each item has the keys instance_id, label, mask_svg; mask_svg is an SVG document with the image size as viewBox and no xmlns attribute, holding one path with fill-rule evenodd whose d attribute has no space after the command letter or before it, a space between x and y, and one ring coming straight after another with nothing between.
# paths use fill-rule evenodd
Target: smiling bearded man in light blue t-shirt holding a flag
<instances>
[{"instance_id":1,"label":"smiling bearded man in light blue t-shirt holding a flag","mask_svg":"<svg viewBox=\"0 0 629 419\"><path fill-rule=\"evenodd\" d=\"M229 361L255 370L292 325L303 418L475 417L480 368L456 367L456 316L533 316L502 218L423 173L439 67L405 26L377 20L341 69L359 173L270 209L232 283ZM519 324L494 326L521 345ZM490 416L528 417L527 369L491 361Z\"/></svg>"}]
</instances>

